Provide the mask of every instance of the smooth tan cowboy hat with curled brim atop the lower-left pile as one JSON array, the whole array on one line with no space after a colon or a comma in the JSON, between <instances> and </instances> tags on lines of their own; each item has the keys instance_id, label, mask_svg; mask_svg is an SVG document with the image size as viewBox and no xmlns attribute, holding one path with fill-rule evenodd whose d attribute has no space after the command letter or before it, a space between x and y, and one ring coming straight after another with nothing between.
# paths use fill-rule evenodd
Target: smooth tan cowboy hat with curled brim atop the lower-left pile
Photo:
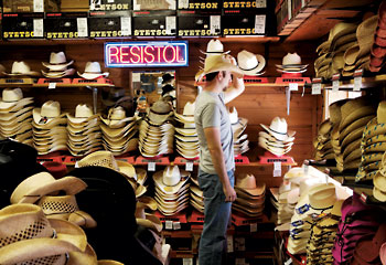
<instances>
[{"instance_id":1,"label":"smooth tan cowboy hat with curled brim atop the lower-left pile","mask_svg":"<svg viewBox=\"0 0 386 265\"><path fill-rule=\"evenodd\" d=\"M11 203L34 203L42 197L58 191L67 195L76 194L86 189L86 183L75 177L56 180L49 172L35 173L23 180L12 192Z\"/></svg>"}]
</instances>

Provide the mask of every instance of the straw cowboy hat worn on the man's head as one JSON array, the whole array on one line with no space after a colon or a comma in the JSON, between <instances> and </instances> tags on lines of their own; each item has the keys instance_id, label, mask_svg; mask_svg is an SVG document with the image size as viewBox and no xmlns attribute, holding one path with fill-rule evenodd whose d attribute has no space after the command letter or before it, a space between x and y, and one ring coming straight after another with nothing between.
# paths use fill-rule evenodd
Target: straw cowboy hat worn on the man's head
<instances>
[{"instance_id":1,"label":"straw cowboy hat worn on the man's head","mask_svg":"<svg viewBox=\"0 0 386 265\"><path fill-rule=\"evenodd\" d=\"M242 76L243 71L235 65L233 60L234 57L230 55L207 56L205 59L204 68L195 75L196 81L201 81L206 74L221 71L229 71L232 74Z\"/></svg>"}]
</instances>

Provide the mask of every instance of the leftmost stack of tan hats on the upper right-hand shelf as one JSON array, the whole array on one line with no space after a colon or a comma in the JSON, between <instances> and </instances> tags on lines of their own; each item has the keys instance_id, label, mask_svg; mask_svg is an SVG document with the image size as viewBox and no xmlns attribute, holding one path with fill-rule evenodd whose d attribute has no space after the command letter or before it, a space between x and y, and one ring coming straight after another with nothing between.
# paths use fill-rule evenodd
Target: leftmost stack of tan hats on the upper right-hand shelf
<instances>
[{"instance_id":1,"label":"leftmost stack of tan hats on the upper right-hand shelf","mask_svg":"<svg viewBox=\"0 0 386 265\"><path fill-rule=\"evenodd\" d=\"M317 77L331 78L333 74L343 71L344 53L356 44L356 28L357 23L340 22L330 30L329 39L317 47Z\"/></svg>"}]
</instances>

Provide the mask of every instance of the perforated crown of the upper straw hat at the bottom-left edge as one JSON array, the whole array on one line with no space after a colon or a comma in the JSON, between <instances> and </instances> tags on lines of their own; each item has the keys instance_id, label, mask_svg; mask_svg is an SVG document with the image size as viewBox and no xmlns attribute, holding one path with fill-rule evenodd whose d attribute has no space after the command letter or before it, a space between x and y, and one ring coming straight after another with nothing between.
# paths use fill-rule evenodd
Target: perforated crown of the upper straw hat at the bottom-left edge
<instances>
[{"instance_id":1,"label":"perforated crown of the upper straw hat at the bottom-left edge","mask_svg":"<svg viewBox=\"0 0 386 265\"><path fill-rule=\"evenodd\" d=\"M42 209L30 203L12 204L0 210L0 247L14 242L52 237L53 229Z\"/></svg>"}]
</instances>

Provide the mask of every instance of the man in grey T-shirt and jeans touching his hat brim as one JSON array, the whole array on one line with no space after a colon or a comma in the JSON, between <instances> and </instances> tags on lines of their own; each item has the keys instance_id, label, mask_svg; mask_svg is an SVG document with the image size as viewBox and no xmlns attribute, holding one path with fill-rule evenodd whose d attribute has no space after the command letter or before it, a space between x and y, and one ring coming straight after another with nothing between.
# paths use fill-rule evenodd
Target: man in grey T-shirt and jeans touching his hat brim
<instances>
[{"instance_id":1,"label":"man in grey T-shirt and jeans touching his hat brim","mask_svg":"<svg viewBox=\"0 0 386 265\"><path fill-rule=\"evenodd\" d=\"M200 141L199 183L205 205L199 262L219 265L224 263L230 206L236 200L233 131L225 104L240 95L245 86L242 71L230 55L207 56L199 78L203 76L206 82L194 114Z\"/></svg>"}]
</instances>

